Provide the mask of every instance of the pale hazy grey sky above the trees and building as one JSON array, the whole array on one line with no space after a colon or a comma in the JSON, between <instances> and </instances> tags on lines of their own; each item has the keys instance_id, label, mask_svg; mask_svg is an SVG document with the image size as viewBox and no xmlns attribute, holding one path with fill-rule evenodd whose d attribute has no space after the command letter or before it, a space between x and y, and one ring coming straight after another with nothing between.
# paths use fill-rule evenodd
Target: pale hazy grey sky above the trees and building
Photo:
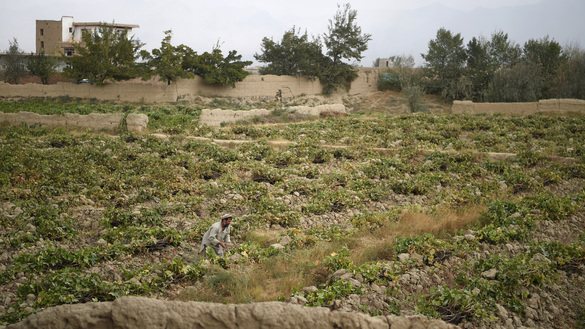
<instances>
[{"instance_id":1,"label":"pale hazy grey sky above the trees and building","mask_svg":"<svg viewBox=\"0 0 585 329\"><path fill-rule=\"evenodd\" d=\"M254 60L262 38L280 41L293 26L322 36L337 4L345 2L358 11L362 31L372 35L362 66L402 54L421 63L420 53L441 27L461 33L465 44L503 31L520 45L548 35L563 46L585 47L585 0L0 0L0 52L13 37L32 52L37 19L73 16L76 22L140 25L135 37L149 51L170 29L174 45L203 53L219 41L224 54L237 50L244 60Z\"/></svg>"}]
</instances>

